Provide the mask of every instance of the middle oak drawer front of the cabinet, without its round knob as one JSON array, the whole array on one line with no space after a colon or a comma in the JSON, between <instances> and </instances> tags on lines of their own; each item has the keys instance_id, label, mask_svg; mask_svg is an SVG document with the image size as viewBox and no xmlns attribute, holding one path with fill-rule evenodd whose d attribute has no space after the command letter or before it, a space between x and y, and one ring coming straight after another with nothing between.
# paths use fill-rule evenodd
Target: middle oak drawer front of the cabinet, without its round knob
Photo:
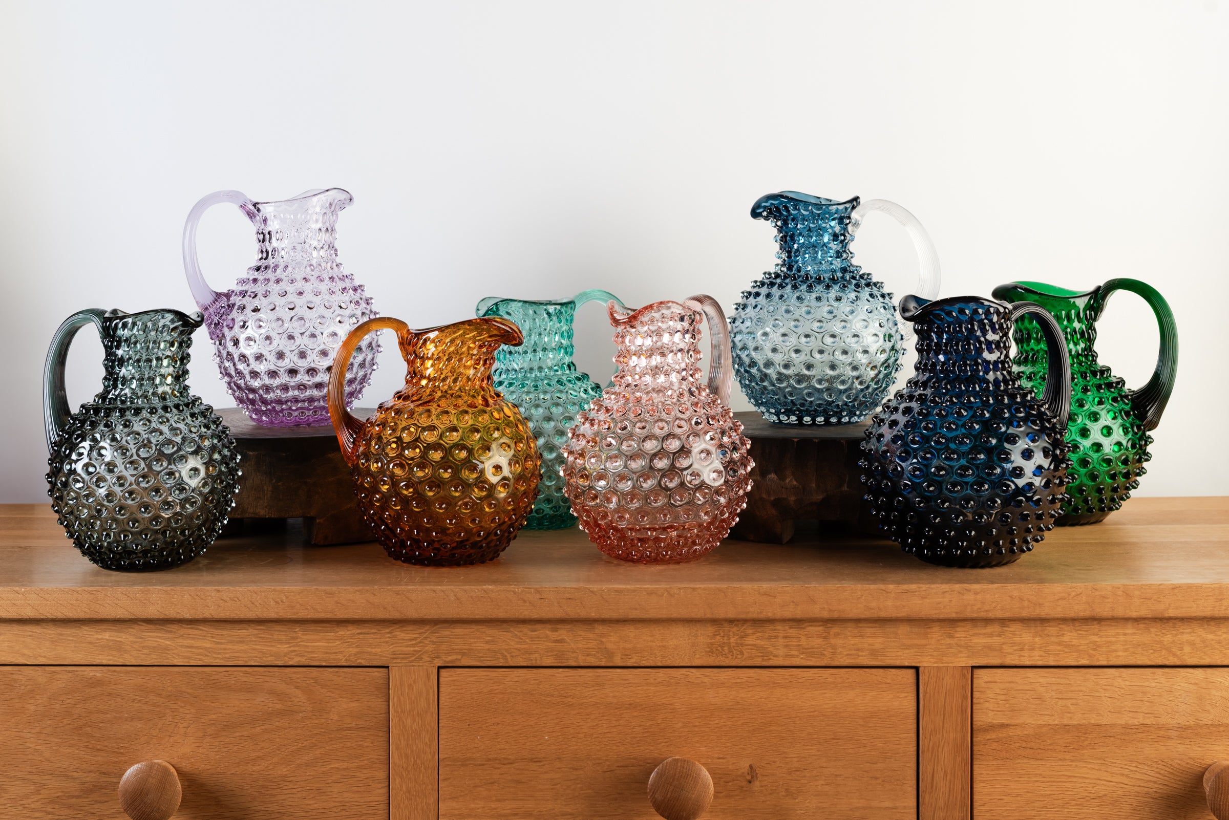
<instances>
[{"instance_id":1,"label":"middle oak drawer front of the cabinet, without its round knob","mask_svg":"<svg viewBox=\"0 0 1229 820\"><path fill-rule=\"evenodd\" d=\"M440 818L656 818L702 764L705 820L917 816L912 669L444 669Z\"/></svg>"}]
</instances>

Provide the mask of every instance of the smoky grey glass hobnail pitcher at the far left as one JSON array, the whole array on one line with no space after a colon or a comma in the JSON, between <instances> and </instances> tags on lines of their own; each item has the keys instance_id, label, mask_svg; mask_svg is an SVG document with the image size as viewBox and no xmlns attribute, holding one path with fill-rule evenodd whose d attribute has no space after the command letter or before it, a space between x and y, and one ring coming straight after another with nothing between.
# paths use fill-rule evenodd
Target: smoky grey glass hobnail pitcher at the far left
<instances>
[{"instance_id":1,"label":"smoky grey glass hobnail pitcher at the far left","mask_svg":"<svg viewBox=\"0 0 1229 820\"><path fill-rule=\"evenodd\" d=\"M93 322L106 374L69 415L64 360ZM200 314L82 311L48 351L44 408L48 495L65 534L107 570L190 561L221 533L238 489L238 453L213 408L190 394L188 349Z\"/></svg>"}]
</instances>

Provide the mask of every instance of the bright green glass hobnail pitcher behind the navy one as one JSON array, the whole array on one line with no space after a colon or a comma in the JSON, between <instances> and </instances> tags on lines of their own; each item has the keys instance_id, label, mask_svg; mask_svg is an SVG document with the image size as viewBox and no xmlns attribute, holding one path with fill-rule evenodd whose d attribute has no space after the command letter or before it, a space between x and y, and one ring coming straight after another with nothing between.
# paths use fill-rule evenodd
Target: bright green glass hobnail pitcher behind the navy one
<instances>
[{"instance_id":1,"label":"bright green glass hobnail pitcher behind the navy one","mask_svg":"<svg viewBox=\"0 0 1229 820\"><path fill-rule=\"evenodd\" d=\"M1138 390L1097 361L1096 323L1116 291L1138 293L1152 307L1160 327L1160 352L1152 378ZM1059 525L1093 524L1120 509L1139 486L1152 459L1148 431L1160 424L1177 376L1177 325L1156 288L1137 279L1111 279L1083 293L1042 282L1011 282L994 288L1004 302L1027 300L1046 308L1063 329L1072 360L1072 416L1067 443L1072 447L1067 495ZM1031 318L1015 325L1019 355L1015 369L1025 384L1040 390L1048 352Z\"/></svg>"}]
</instances>

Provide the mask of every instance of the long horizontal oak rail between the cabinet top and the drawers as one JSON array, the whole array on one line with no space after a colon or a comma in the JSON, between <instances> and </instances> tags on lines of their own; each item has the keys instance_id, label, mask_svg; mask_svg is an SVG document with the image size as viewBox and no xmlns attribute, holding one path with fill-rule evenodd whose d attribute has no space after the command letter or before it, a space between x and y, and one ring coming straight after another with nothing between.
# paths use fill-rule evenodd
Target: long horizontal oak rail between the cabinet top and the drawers
<instances>
[{"instance_id":1,"label":"long horizontal oak rail between the cabinet top and the drawers","mask_svg":"<svg viewBox=\"0 0 1229 820\"><path fill-rule=\"evenodd\" d=\"M1229 665L1229 619L0 621L0 663Z\"/></svg>"}]
</instances>

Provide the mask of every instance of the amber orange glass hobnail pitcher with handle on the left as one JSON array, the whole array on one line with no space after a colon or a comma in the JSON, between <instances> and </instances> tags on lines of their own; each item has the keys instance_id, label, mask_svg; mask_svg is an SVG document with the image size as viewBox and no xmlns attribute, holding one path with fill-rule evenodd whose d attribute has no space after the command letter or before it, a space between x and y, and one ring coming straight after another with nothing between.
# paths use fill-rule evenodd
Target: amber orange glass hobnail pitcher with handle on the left
<instances>
[{"instance_id":1,"label":"amber orange glass hobnail pitcher with handle on the left","mask_svg":"<svg viewBox=\"0 0 1229 820\"><path fill-rule=\"evenodd\" d=\"M397 333L406 387L360 421L345 409L345 369L363 339L383 329ZM528 424L492 379L499 346L522 341L514 323L488 317L428 330L369 319L342 342L328 412L359 509L390 556L483 563L525 525L542 459Z\"/></svg>"}]
</instances>

